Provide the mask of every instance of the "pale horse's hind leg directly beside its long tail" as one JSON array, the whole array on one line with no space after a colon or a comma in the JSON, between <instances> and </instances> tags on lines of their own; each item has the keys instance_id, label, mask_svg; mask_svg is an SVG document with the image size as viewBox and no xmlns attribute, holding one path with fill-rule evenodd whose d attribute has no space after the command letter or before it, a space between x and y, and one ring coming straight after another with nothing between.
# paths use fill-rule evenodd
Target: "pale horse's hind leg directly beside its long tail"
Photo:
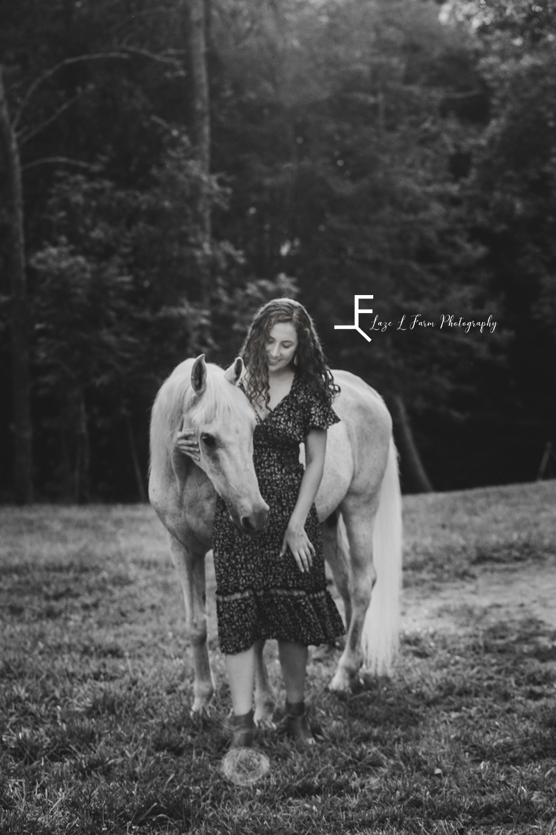
<instances>
[{"instance_id":1,"label":"pale horse's hind leg directly beside its long tail","mask_svg":"<svg viewBox=\"0 0 556 835\"><path fill-rule=\"evenodd\" d=\"M347 691L363 664L361 633L376 580L373 566L373 527L377 508L368 500L359 506L356 500L345 500L342 515L349 539L349 598L351 618L346 624L346 645L338 669L330 682L333 691Z\"/></svg>"}]
</instances>

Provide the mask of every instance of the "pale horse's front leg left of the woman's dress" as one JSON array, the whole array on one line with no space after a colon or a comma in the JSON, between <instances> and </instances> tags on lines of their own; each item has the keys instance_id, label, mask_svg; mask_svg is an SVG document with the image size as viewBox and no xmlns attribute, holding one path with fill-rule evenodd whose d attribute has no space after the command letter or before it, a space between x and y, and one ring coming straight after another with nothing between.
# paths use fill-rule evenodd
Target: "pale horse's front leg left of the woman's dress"
<instances>
[{"instance_id":1,"label":"pale horse's front leg left of the woman's dress","mask_svg":"<svg viewBox=\"0 0 556 835\"><path fill-rule=\"evenodd\" d=\"M169 534L170 554L178 571L185 602L185 622L193 649L193 706L191 715L204 713L214 693L213 673L207 649L207 612L205 608L204 554L191 554Z\"/></svg>"}]
</instances>

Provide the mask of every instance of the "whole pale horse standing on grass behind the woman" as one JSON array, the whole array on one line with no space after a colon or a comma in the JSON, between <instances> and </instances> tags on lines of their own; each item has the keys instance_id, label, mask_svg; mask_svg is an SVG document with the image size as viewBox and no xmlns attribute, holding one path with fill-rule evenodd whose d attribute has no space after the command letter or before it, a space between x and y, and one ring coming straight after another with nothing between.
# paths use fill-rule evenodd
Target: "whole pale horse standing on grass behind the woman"
<instances>
[{"instance_id":1,"label":"whole pale horse standing on grass behind the woman","mask_svg":"<svg viewBox=\"0 0 556 835\"><path fill-rule=\"evenodd\" d=\"M204 354L181 362L153 404L148 495L168 531L193 649L192 716L208 711L214 680L208 658L205 555L211 548L217 493L233 523L256 536L268 518L253 467L255 412L238 382L243 360L224 371ZM390 675L398 650L402 512L392 419L382 397L360 377L333 371L340 423L328 429L323 480L315 499L324 557L345 608L346 637L329 689L347 692L363 663ZM176 445L180 431L198 439L199 463ZM303 445L300 460L303 461ZM370 605L369 605L370 603ZM273 688L255 653L255 721L272 725Z\"/></svg>"}]
</instances>

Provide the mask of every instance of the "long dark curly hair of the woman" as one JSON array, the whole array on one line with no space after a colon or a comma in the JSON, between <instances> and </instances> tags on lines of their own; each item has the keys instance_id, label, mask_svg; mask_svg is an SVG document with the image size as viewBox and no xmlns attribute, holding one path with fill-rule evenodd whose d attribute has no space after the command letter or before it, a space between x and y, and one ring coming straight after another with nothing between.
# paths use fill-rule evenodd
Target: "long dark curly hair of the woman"
<instances>
[{"instance_id":1,"label":"long dark curly hair of the woman","mask_svg":"<svg viewBox=\"0 0 556 835\"><path fill-rule=\"evenodd\" d=\"M340 387L334 382L328 368L311 316L303 305L293 299L267 301L255 313L240 352L248 371L245 391L249 400L259 408L267 407L270 401L266 346L270 331L278 321L291 322L298 335L296 370L307 382L323 392L332 405Z\"/></svg>"}]
</instances>

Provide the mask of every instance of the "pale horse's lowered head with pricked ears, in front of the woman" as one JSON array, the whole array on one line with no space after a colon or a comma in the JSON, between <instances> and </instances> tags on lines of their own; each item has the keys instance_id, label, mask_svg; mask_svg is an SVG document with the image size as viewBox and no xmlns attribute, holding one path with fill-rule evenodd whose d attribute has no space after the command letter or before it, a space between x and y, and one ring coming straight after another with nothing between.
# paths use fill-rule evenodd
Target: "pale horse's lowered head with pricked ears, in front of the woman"
<instances>
[{"instance_id":1,"label":"pale horse's lowered head with pricked ears, in front of the woman","mask_svg":"<svg viewBox=\"0 0 556 835\"><path fill-rule=\"evenodd\" d=\"M258 489L253 467L255 414L238 388L243 360L226 372L204 354L193 363L191 385L183 398L183 425L198 440L198 466L208 475L223 498L231 519L246 534L262 530L268 519L268 504Z\"/></svg>"}]
</instances>

